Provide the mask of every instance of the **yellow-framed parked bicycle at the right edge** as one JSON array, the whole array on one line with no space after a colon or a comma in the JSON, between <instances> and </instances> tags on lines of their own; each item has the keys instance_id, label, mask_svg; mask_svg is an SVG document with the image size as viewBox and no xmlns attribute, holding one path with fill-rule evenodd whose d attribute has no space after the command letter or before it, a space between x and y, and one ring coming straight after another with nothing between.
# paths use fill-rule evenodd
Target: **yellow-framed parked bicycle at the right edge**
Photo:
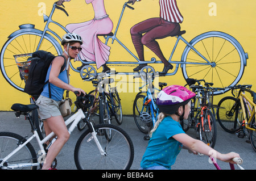
<instances>
[{"instance_id":1,"label":"yellow-framed parked bicycle at the right edge","mask_svg":"<svg viewBox=\"0 0 256 181\"><path fill-rule=\"evenodd\" d=\"M218 103L217 119L221 127L229 133L238 133L238 137L249 137L251 146L256 151L255 106L256 94L252 85L228 87L233 96L226 96ZM249 95L246 94L249 93Z\"/></svg>"}]
</instances>

